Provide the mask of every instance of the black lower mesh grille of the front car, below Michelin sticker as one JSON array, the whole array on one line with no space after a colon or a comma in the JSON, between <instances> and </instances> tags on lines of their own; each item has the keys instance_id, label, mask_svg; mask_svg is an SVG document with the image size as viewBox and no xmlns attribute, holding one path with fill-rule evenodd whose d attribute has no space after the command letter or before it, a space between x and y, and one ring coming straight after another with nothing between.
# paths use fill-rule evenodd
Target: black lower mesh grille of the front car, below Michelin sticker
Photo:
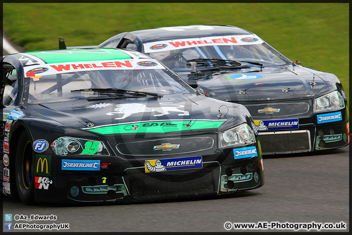
<instances>
[{"instance_id":1,"label":"black lower mesh grille of the front car, below Michelin sticker","mask_svg":"<svg viewBox=\"0 0 352 235\"><path fill-rule=\"evenodd\" d=\"M182 175L154 175L132 177L131 193L137 197L167 197L214 193L211 171L200 171Z\"/></svg>"}]
</instances>

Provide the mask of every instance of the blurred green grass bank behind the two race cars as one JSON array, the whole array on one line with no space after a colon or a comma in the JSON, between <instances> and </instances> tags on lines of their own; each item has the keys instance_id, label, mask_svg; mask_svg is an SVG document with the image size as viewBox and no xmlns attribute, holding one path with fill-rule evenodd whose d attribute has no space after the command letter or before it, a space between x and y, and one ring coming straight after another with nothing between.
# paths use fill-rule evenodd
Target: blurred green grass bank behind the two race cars
<instances>
[{"instance_id":1,"label":"blurred green grass bank behind the two race cars","mask_svg":"<svg viewBox=\"0 0 352 235\"><path fill-rule=\"evenodd\" d=\"M229 24L292 61L334 73L349 98L349 3L3 3L3 30L26 51L98 45L120 32Z\"/></svg>"}]
</instances>

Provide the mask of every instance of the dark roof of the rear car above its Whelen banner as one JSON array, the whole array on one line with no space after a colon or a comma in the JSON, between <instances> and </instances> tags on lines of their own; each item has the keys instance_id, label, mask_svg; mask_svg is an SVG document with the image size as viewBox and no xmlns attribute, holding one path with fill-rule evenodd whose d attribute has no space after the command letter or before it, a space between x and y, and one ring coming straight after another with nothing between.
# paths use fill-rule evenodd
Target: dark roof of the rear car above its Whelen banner
<instances>
[{"instance_id":1,"label":"dark roof of the rear car above its Whelen banner","mask_svg":"<svg viewBox=\"0 0 352 235\"><path fill-rule=\"evenodd\" d=\"M192 30L190 30L191 28ZM134 34L140 38L143 43L148 43L171 39L244 35L253 33L231 25L187 25L135 30L128 34Z\"/></svg>"}]
</instances>

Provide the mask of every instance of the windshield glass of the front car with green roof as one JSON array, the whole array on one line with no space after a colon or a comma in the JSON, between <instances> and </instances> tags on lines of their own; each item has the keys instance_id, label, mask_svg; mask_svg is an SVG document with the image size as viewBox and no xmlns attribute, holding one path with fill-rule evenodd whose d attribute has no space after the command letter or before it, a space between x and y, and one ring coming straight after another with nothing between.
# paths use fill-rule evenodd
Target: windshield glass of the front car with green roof
<instances>
[{"instance_id":1,"label":"windshield glass of the front car with green roof","mask_svg":"<svg viewBox=\"0 0 352 235\"><path fill-rule=\"evenodd\" d=\"M183 82L178 82L178 78L174 79L160 69L77 71L27 79L29 80L28 103L36 104L90 98L127 98L146 96L146 94L153 97L192 92L191 88ZM109 91L109 89L133 92L120 94L99 92Z\"/></svg>"}]
</instances>

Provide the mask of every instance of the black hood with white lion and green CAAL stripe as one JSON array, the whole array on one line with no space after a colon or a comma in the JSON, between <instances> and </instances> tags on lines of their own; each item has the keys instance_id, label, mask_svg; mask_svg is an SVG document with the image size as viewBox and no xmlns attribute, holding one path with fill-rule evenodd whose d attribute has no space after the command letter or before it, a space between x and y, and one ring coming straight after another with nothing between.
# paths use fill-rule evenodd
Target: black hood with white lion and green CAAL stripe
<instances>
[{"instance_id":1,"label":"black hood with white lion and green CAAL stripe","mask_svg":"<svg viewBox=\"0 0 352 235\"><path fill-rule=\"evenodd\" d=\"M219 118L219 109L227 116ZM148 127L151 132L155 131L152 128L155 126L169 126L167 130L171 132L220 126L228 128L245 122L245 116L250 116L242 105L198 94L164 95L161 98L82 99L28 106L27 110L42 114L66 127L99 134L131 133L135 125L138 125L139 131L142 127ZM192 128L183 125L187 123ZM178 129L172 128L176 126ZM165 133L165 130L159 128L156 132Z\"/></svg>"}]
</instances>

